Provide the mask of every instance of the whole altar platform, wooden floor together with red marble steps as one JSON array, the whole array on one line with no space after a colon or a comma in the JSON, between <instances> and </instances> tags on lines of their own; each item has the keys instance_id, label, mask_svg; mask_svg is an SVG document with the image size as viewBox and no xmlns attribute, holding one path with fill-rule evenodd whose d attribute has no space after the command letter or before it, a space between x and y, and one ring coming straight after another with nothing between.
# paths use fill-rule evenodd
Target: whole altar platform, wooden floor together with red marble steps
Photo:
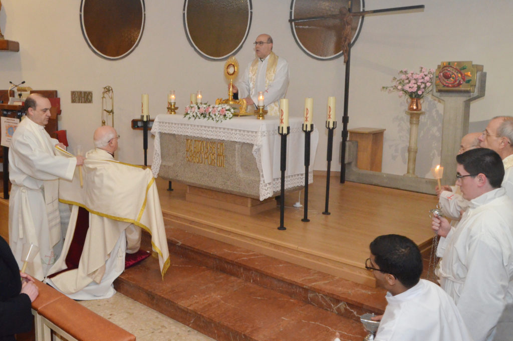
<instances>
[{"instance_id":1,"label":"whole altar platform, wooden floor together with red marble steps","mask_svg":"<svg viewBox=\"0 0 513 341\"><path fill-rule=\"evenodd\" d=\"M167 182L157 180L171 265L162 280L149 258L126 270L116 290L219 340L331 340L337 331L341 339L363 339L359 316L386 306L384 290L364 268L368 244L399 233L427 259L428 210L437 200L333 177L327 216L326 178L314 178L310 222L292 207L299 193L288 194L285 231L277 229L279 208L245 216L191 204L185 185L173 182L167 191ZM143 248L149 249L146 235Z\"/></svg>"}]
</instances>

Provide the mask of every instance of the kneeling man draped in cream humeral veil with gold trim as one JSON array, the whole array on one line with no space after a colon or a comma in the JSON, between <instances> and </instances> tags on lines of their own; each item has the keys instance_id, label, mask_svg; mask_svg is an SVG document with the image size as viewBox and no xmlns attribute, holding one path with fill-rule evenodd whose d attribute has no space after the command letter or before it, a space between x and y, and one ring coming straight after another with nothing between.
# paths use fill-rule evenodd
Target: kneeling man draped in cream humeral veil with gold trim
<instances>
[{"instance_id":1,"label":"kneeling man draped in cream humeral veil with gold trim","mask_svg":"<svg viewBox=\"0 0 513 341\"><path fill-rule=\"evenodd\" d=\"M76 180L61 183L60 200L72 205L71 218L61 257L45 282L75 300L105 299L115 293L112 283L125 269L125 253L139 249L141 228L151 234L162 275L169 266L162 210L151 170L115 161L119 138L110 126L98 128L94 134L96 148L86 154L83 187ZM79 207L88 211L89 227L78 266L70 268L67 257Z\"/></svg>"}]
</instances>

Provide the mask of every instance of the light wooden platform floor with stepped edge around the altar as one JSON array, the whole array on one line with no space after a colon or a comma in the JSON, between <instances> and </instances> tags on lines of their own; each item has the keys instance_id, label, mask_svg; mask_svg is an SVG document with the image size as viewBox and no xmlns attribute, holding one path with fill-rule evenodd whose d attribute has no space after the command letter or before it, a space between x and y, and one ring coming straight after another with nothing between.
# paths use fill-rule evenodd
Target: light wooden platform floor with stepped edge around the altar
<instances>
[{"instance_id":1,"label":"light wooden platform floor with stepped edge around the altar","mask_svg":"<svg viewBox=\"0 0 513 341\"><path fill-rule=\"evenodd\" d=\"M167 225L258 251L272 257L374 286L365 270L368 245L379 235L397 233L415 241L421 249L430 247L432 232L428 211L435 196L404 190L346 182L331 178L330 215L325 209L325 176L314 176L309 186L308 218L304 207L292 205L299 192L285 198L285 231L277 229L280 209L253 216L185 201L186 186L158 179L161 206ZM301 203L303 191L301 192Z\"/></svg>"}]
</instances>

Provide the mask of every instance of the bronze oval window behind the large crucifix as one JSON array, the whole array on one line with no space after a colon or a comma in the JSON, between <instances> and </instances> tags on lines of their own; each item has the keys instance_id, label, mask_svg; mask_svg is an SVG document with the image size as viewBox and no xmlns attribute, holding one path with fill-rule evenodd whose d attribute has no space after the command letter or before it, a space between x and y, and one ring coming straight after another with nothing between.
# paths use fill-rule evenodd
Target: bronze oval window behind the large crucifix
<instances>
[{"instance_id":1,"label":"bronze oval window behind the large crucifix","mask_svg":"<svg viewBox=\"0 0 513 341\"><path fill-rule=\"evenodd\" d=\"M344 11L349 0L292 0L290 29L295 42L315 59L334 59L343 55ZM364 0L353 0L352 11L364 10ZM318 17L317 19L314 19ZM309 18L301 21L301 18ZM358 39L363 17L353 16L350 46Z\"/></svg>"}]
</instances>

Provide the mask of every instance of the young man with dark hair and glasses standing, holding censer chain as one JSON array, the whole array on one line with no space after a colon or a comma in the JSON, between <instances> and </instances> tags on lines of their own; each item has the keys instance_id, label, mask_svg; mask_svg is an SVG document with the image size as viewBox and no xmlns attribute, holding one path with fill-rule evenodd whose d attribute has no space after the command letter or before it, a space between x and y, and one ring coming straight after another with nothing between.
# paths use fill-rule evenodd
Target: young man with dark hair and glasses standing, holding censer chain
<instances>
[{"instance_id":1,"label":"young man with dark hair and glasses standing, holding censer chain","mask_svg":"<svg viewBox=\"0 0 513 341\"><path fill-rule=\"evenodd\" d=\"M476 341L492 340L499 317L513 303L513 201L501 187L501 157L487 148L456 158L457 183L469 200L457 228L433 218L443 250L438 274Z\"/></svg>"}]
</instances>

